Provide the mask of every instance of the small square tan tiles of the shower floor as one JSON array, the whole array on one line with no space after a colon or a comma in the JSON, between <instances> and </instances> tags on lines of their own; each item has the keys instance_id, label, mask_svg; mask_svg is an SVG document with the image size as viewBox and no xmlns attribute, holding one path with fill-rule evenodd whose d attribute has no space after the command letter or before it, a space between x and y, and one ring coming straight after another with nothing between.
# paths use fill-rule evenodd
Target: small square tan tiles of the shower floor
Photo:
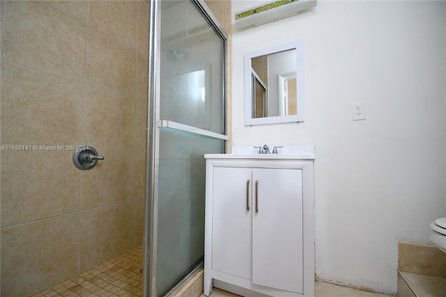
<instances>
[{"instance_id":1,"label":"small square tan tiles of the shower floor","mask_svg":"<svg viewBox=\"0 0 446 297\"><path fill-rule=\"evenodd\" d=\"M41 291L31 297L141 297L142 296L143 248L120 254L109 261L95 266L69 280Z\"/></svg>"}]
</instances>

